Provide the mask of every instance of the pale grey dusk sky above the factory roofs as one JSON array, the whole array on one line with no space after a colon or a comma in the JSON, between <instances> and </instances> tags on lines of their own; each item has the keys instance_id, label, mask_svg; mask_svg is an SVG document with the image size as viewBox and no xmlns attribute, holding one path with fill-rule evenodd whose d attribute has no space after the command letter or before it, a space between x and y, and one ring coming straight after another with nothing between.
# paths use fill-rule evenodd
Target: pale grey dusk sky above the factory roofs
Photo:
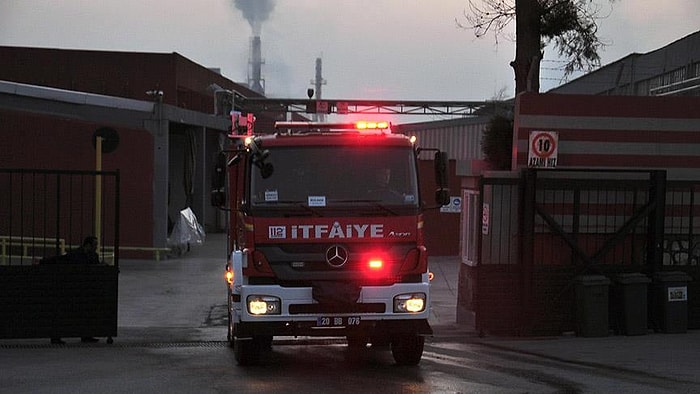
<instances>
[{"instance_id":1,"label":"pale grey dusk sky above the factory roofs","mask_svg":"<svg viewBox=\"0 0 700 394\"><path fill-rule=\"evenodd\" d=\"M481 1L481 0L474 0ZM700 0L596 0L602 65L700 30ZM476 38L468 0L263 0L266 95L306 98L323 62L327 99L481 101L512 97L515 43ZM511 36L514 32L511 26ZM0 0L0 45L177 52L247 81L252 27L235 0ZM542 91L562 83L545 50Z\"/></svg>"}]
</instances>

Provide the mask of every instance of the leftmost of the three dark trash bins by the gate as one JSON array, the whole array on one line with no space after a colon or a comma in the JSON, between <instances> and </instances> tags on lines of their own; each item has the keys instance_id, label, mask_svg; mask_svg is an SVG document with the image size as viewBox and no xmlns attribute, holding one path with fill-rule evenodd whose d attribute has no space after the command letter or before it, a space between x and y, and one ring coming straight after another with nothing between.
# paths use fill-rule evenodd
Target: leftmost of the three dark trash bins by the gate
<instances>
[{"instance_id":1,"label":"leftmost of the three dark trash bins by the gate","mask_svg":"<svg viewBox=\"0 0 700 394\"><path fill-rule=\"evenodd\" d=\"M608 288L610 279L602 275L574 278L576 334L582 337L608 336Z\"/></svg>"}]
</instances>

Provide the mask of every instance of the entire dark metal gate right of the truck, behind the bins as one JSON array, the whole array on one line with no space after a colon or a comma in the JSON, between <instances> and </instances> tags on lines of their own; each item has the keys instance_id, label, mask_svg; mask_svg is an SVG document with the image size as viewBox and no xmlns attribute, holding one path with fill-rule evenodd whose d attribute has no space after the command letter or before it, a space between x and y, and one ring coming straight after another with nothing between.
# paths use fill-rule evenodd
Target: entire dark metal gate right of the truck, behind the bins
<instances>
[{"instance_id":1,"label":"entire dark metal gate right of the truck, behind the bins","mask_svg":"<svg viewBox=\"0 0 700 394\"><path fill-rule=\"evenodd\" d=\"M697 184L667 182L665 171L524 169L482 177L481 216L465 218L481 222L471 226L481 229L471 237L474 245L465 243L478 257L460 270L476 328L516 335L574 331L579 275L651 278L680 269L697 278L698 192ZM670 255L686 262L682 267L670 264L671 239L679 240L673 244L679 252ZM695 283L689 286L689 327L699 320L697 291Z\"/></svg>"}]
</instances>

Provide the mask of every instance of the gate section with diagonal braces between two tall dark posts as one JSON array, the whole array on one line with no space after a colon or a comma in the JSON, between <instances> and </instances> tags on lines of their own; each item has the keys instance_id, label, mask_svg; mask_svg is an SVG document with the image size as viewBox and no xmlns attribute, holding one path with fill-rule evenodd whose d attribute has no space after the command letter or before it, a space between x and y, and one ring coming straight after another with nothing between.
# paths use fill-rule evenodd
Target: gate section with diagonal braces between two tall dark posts
<instances>
[{"instance_id":1,"label":"gate section with diagonal braces between two tall dark posts","mask_svg":"<svg viewBox=\"0 0 700 394\"><path fill-rule=\"evenodd\" d=\"M580 275L658 269L665 178L664 171L523 171L525 333L574 331Z\"/></svg>"}]
</instances>

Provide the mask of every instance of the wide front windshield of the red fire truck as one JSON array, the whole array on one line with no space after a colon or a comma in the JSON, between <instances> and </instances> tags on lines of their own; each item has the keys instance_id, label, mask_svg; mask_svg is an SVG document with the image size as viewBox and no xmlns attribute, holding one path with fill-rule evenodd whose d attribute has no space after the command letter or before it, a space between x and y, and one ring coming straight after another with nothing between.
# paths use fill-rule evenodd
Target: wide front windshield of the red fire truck
<instances>
[{"instance_id":1,"label":"wide front windshield of the red fire truck","mask_svg":"<svg viewBox=\"0 0 700 394\"><path fill-rule=\"evenodd\" d=\"M252 207L348 205L415 208L419 204L414 151L391 146L270 147L274 174L252 166Z\"/></svg>"}]
</instances>

